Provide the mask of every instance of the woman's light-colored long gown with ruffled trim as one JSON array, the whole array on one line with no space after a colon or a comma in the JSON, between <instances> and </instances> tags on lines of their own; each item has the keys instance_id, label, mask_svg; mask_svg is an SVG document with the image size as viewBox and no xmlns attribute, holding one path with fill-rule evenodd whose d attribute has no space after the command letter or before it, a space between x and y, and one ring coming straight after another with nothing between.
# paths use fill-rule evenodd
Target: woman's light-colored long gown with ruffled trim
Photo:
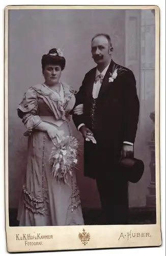
<instances>
[{"instance_id":1,"label":"woman's light-colored long gown with ruffled trim","mask_svg":"<svg viewBox=\"0 0 166 256\"><path fill-rule=\"evenodd\" d=\"M18 105L18 114L27 127L28 156L25 181L18 207L20 226L84 225L75 172L68 184L52 178L49 156L53 142L46 132L34 129L41 121L55 125L72 136L69 112L73 109L73 90L61 83L61 92L44 83L31 87Z\"/></svg>"}]
</instances>

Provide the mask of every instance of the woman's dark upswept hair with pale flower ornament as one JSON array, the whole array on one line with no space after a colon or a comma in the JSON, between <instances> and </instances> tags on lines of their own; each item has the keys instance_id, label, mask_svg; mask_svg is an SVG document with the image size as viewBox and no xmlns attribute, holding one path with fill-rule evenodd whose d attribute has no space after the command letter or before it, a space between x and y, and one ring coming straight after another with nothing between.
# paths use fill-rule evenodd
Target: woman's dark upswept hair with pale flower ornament
<instances>
[{"instance_id":1,"label":"woman's dark upswept hair with pale flower ornament","mask_svg":"<svg viewBox=\"0 0 166 256\"><path fill-rule=\"evenodd\" d=\"M53 48L49 50L47 54L42 56L42 72L44 72L46 65L60 65L61 69L64 70L66 60L62 56L62 51L60 49Z\"/></svg>"}]
</instances>

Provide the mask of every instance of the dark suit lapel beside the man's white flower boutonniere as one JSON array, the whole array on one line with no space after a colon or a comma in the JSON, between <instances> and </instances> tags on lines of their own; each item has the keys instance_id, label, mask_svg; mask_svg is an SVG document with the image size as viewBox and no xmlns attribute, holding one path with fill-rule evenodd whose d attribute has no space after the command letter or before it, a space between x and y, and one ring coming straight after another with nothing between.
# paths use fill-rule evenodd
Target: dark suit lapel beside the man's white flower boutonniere
<instances>
[{"instance_id":1,"label":"dark suit lapel beside the man's white flower boutonniere","mask_svg":"<svg viewBox=\"0 0 166 256\"><path fill-rule=\"evenodd\" d=\"M110 65L107 69L107 72L106 72L106 74L104 76L104 79L103 79L103 82L101 84L101 88L100 88L100 91L99 91L98 98L101 97L101 95L107 90L108 87L113 86L114 82L109 82L109 77L110 77L109 73L113 73L114 65L116 65L116 63L112 60L110 62Z\"/></svg>"}]
</instances>

